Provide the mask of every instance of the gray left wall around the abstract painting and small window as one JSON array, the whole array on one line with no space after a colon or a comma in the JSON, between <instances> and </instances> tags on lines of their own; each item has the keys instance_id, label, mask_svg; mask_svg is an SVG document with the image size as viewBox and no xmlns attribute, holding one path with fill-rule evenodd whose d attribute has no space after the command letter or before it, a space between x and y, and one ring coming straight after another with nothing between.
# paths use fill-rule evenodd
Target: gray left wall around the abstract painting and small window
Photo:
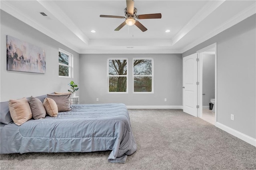
<instances>
[{"instance_id":1,"label":"gray left wall around the abstract painting and small window","mask_svg":"<svg viewBox=\"0 0 256 170\"><path fill-rule=\"evenodd\" d=\"M6 71L6 35L42 47L46 52L46 73ZM74 79L58 77L59 48L74 55ZM71 80L79 80L79 54L1 10L0 76L0 101L66 92Z\"/></svg>"}]
</instances>

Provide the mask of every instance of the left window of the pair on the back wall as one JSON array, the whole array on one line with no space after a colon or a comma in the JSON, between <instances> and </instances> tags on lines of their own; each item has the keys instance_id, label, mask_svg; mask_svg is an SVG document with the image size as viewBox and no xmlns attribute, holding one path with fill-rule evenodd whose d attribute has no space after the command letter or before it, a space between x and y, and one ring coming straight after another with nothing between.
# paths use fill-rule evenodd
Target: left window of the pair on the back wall
<instances>
[{"instance_id":1,"label":"left window of the pair on the back wall","mask_svg":"<svg viewBox=\"0 0 256 170\"><path fill-rule=\"evenodd\" d=\"M108 92L128 93L127 59L108 59Z\"/></svg>"}]
</instances>

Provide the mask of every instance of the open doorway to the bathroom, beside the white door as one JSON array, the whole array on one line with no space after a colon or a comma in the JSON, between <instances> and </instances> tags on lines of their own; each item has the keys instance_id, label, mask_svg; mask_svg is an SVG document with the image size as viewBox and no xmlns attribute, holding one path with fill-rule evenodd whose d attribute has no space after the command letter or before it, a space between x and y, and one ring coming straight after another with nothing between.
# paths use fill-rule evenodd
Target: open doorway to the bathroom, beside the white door
<instances>
[{"instance_id":1,"label":"open doorway to the bathroom, beside the white door","mask_svg":"<svg viewBox=\"0 0 256 170\"><path fill-rule=\"evenodd\" d=\"M199 51L198 58L198 117L215 125L217 120L217 57L216 43L209 45Z\"/></svg>"}]
</instances>

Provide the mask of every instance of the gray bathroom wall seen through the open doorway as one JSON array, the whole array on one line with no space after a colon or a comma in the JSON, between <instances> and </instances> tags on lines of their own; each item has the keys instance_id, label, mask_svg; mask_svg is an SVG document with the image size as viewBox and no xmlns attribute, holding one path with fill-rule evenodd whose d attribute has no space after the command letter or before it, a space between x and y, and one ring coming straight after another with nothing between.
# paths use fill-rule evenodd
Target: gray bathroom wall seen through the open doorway
<instances>
[{"instance_id":1,"label":"gray bathroom wall seen through the open doorway","mask_svg":"<svg viewBox=\"0 0 256 170\"><path fill-rule=\"evenodd\" d=\"M215 97L215 55L203 54L203 106L208 106L210 99Z\"/></svg>"}]
</instances>

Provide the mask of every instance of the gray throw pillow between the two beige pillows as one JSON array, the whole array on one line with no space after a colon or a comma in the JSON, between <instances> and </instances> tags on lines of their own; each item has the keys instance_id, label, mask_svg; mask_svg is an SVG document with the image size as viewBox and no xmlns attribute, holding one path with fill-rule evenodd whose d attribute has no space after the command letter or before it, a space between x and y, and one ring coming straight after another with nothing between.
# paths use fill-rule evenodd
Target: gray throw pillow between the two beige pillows
<instances>
[{"instance_id":1,"label":"gray throw pillow between the two beige pillows","mask_svg":"<svg viewBox=\"0 0 256 170\"><path fill-rule=\"evenodd\" d=\"M32 111L32 116L34 119L44 119L46 116L46 111L44 109L44 105L40 99L31 96L28 100L30 105L30 109Z\"/></svg>"}]
</instances>

